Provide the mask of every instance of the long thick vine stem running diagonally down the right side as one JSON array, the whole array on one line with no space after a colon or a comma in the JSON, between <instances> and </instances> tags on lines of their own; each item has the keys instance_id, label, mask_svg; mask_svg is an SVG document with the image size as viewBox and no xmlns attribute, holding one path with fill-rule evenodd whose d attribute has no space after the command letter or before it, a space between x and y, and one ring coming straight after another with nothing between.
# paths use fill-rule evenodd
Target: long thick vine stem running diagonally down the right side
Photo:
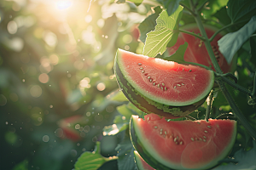
<instances>
[{"instance_id":1,"label":"long thick vine stem running diagonally down the right side","mask_svg":"<svg viewBox=\"0 0 256 170\"><path fill-rule=\"evenodd\" d=\"M196 21L196 23L197 23L197 25L199 27L199 30L201 31L201 35L202 35L202 37L206 38L205 45L206 45L206 48L207 48L207 52L210 55L210 59L212 60L212 64L213 64L213 66L215 68L215 71L218 74L222 74L222 71L221 71L221 69L220 69L220 67L218 65L217 59L215 59L214 53L212 51L211 43L210 43L209 39L207 38L207 32L205 31L205 29L204 29L204 27L202 25L201 17L199 15L199 12L196 10L192 0L189 0L189 3L190 3L191 10L193 10L195 12L195 14L196 14L195 21ZM230 93L228 92L227 88L225 87L225 84L224 84L223 80L220 77L217 77L216 80L218 82L219 88L221 89L221 91L224 94L225 98L229 102L230 107L234 111L236 117L241 122L242 126L247 129L248 133L250 133L250 135L255 140L256 139L256 132L255 132L255 130L250 125L250 123L247 122L246 117L241 113L241 111L239 110L238 106L235 104L235 102L232 99Z\"/></svg>"}]
</instances>

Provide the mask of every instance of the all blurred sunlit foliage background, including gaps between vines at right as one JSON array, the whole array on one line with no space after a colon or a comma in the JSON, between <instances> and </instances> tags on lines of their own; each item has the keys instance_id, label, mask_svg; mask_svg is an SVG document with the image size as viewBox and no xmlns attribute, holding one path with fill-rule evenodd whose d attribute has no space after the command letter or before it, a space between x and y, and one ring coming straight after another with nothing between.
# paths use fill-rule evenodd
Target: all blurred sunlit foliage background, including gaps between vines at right
<instances>
[{"instance_id":1,"label":"all blurred sunlit foliage background, including gaps between vines at right","mask_svg":"<svg viewBox=\"0 0 256 170\"><path fill-rule=\"evenodd\" d=\"M128 123L131 114L143 116L143 112L119 91L113 58L117 48L143 53L145 34L154 30L160 3L166 7L179 2L189 4L184 0L131 2L0 1L1 169L77 168L76 161L92 156L97 141L101 142L101 150L95 156L102 160L102 156L119 156L118 161L108 161L99 169L137 169ZM230 20L248 21L248 16L255 14L250 10L236 16L226 4L220 0L205 4L201 19L221 27L230 24ZM238 8L233 3L228 5ZM173 8L168 14L174 12ZM191 22L195 20L184 8L180 25ZM140 23L143 35L137 29ZM227 31L237 31L241 26ZM143 42L137 41L139 37ZM237 52L235 76L241 86L249 89L256 71L255 44L255 36L250 37ZM230 94L255 127L253 100L234 88L230 88ZM215 97L211 117L224 114L222 118L230 118L232 111L223 94L218 92ZM202 105L190 116L204 119L205 112L206 105ZM247 130L240 124L238 127L231 156L241 147L253 147Z\"/></svg>"}]
</instances>

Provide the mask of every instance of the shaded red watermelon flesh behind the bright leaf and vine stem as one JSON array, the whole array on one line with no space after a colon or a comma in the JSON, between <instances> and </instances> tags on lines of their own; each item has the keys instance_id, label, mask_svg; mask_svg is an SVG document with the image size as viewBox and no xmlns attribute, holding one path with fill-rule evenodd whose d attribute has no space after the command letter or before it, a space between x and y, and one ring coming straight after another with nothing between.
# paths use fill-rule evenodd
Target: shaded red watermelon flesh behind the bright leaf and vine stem
<instances>
[{"instance_id":1,"label":"shaded red watermelon flesh behind the bright leaf and vine stem","mask_svg":"<svg viewBox=\"0 0 256 170\"><path fill-rule=\"evenodd\" d=\"M181 29L201 35L199 28L195 24L183 26L181 27ZM212 37L215 31L218 31L218 29L216 29L215 27L206 26L206 25L205 25L205 30L207 31L208 38ZM218 35L211 42L211 45L212 45L212 50L215 54L215 58L218 61L218 65L220 66L221 70L224 71L224 73L226 73L231 70L231 65L227 63L226 59L224 58L224 55L218 51L218 40L223 36L224 34L218 33ZM212 70L215 71L215 69L213 68L210 56L207 52L205 43L202 42L199 38L195 38L193 36L190 36L189 34L185 34L182 32L179 33L176 44L172 48L169 48L169 54L171 55L174 54L177 48L180 45L182 45L184 42L188 42L189 44L184 54L185 61L199 63L201 65L206 65L206 66L211 65Z\"/></svg>"}]
</instances>

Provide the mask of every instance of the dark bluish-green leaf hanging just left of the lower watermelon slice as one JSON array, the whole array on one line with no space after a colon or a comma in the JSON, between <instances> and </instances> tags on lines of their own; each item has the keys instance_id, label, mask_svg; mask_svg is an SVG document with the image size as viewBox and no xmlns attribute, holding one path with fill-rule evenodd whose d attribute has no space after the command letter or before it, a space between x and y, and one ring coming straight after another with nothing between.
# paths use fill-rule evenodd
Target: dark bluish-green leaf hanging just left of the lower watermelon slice
<instances>
[{"instance_id":1,"label":"dark bluish-green leaf hanging just left of the lower watermelon slice","mask_svg":"<svg viewBox=\"0 0 256 170\"><path fill-rule=\"evenodd\" d=\"M126 135L125 139L118 144L115 150L118 152L117 156L119 156L119 169L137 170L137 165L134 161L133 154L134 148L128 135Z\"/></svg>"}]
</instances>

